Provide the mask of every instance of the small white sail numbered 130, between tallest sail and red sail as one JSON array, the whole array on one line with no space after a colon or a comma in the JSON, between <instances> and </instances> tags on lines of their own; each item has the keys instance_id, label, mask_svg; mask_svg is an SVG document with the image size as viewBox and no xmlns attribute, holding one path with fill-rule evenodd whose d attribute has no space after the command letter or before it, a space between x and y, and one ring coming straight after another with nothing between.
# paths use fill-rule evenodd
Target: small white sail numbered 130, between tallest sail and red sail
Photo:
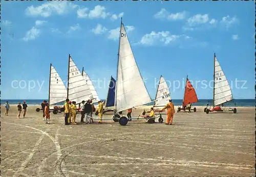
<instances>
[{"instance_id":1,"label":"small white sail numbered 130, between tallest sail and red sail","mask_svg":"<svg viewBox=\"0 0 256 177\"><path fill-rule=\"evenodd\" d=\"M169 99L171 99L169 87L164 78L161 76L158 84L154 107L165 106Z\"/></svg>"}]
</instances>

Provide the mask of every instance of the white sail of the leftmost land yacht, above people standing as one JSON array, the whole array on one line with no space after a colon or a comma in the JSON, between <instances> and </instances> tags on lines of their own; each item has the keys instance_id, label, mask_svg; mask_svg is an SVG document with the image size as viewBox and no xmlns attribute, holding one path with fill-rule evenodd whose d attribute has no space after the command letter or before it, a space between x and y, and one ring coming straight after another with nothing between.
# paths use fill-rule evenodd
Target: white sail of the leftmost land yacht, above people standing
<instances>
[{"instance_id":1,"label":"white sail of the leftmost land yacht, above people standing","mask_svg":"<svg viewBox=\"0 0 256 177\"><path fill-rule=\"evenodd\" d=\"M50 74L49 106L52 106L66 100L67 89L52 64Z\"/></svg>"}]
</instances>

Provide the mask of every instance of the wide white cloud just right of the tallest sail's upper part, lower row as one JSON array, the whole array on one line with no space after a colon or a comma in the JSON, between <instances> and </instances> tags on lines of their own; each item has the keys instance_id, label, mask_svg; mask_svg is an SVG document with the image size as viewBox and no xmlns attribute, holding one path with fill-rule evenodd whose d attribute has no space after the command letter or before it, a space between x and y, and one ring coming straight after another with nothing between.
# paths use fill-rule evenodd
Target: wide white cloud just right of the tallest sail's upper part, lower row
<instances>
[{"instance_id":1,"label":"wide white cloud just right of the tallest sail's upper part, lower row","mask_svg":"<svg viewBox=\"0 0 256 177\"><path fill-rule=\"evenodd\" d=\"M191 37L186 35L172 35L168 31L162 31L162 32L154 32L152 31L150 34L145 34L142 36L140 40L140 44L143 45L154 45L157 43L164 43L165 45L170 44L171 42L176 42L179 39L190 39Z\"/></svg>"}]
</instances>

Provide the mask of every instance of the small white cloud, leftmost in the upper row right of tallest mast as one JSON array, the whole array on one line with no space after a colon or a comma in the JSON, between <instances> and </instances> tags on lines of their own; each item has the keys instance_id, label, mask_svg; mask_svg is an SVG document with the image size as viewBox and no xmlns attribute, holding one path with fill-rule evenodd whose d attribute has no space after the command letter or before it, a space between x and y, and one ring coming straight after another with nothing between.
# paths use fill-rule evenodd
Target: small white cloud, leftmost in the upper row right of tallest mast
<instances>
[{"instance_id":1,"label":"small white cloud, leftmost in the upper row right of tallest mast","mask_svg":"<svg viewBox=\"0 0 256 177\"><path fill-rule=\"evenodd\" d=\"M158 19L168 19L168 20L181 20L186 17L186 12L177 12L177 13L169 13L165 9L161 9L158 13L154 15L155 18Z\"/></svg>"}]
</instances>

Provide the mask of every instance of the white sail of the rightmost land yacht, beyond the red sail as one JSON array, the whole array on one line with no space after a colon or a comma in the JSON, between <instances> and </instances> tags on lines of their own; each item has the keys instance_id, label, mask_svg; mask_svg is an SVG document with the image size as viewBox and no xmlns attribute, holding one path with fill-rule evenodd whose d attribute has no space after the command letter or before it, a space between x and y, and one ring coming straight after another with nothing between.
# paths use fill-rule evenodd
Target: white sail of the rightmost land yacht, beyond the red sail
<instances>
[{"instance_id":1,"label":"white sail of the rightmost land yacht, beyond the red sail","mask_svg":"<svg viewBox=\"0 0 256 177\"><path fill-rule=\"evenodd\" d=\"M233 99L231 89L220 63L215 57L214 106L221 105Z\"/></svg>"}]
</instances>

